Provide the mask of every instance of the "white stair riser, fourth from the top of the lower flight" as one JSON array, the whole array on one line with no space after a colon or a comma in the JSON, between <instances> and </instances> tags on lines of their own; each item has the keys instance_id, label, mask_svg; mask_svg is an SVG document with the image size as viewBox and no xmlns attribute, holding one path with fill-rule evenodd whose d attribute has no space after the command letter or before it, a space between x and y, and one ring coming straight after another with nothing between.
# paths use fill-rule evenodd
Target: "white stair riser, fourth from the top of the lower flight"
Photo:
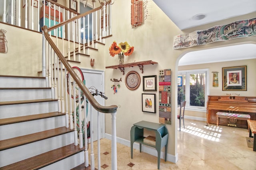
<instances>
[{"instance_id":1,"label":"white stair riser, fourth from the top of the lower flight","mask_svg":"<svg viewBox=\"0 0 256 170\"><path fill-rule=\"evenodd\" d=\"M64 127L66 115L0 126L0 140Z\"/></svg>"}]
</instances>

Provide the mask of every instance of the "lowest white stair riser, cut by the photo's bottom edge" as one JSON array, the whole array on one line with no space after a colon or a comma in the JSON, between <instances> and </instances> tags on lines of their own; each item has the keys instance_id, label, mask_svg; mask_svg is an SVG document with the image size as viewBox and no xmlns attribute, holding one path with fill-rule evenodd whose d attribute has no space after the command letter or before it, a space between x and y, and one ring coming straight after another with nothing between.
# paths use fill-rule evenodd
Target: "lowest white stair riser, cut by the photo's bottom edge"
<instances>
[{"instance_id":1,"label":"lowest white stair riser, cut by the photo's bottom edge","mask_svg":"<svg viewBox=\"0 0 256 170\"><path fill-rule=\"evenodd\" d=\"M84 152L79 152L68 158L50 164L40 170L70 170L80 164L84 163Z\"/></svg>"}]
</instances>

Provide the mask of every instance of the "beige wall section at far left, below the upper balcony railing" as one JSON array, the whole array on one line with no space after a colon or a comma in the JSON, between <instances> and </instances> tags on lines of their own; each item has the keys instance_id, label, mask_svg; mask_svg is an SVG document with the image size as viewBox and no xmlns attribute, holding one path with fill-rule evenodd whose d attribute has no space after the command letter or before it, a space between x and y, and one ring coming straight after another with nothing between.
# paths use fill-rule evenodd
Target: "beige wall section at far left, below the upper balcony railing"
<instances>
[{"instance_id":1,"label":"beige wall section at far left, below the upper balcony railing","mask_svg":"<svg viewBox=\"0 0 256 170\"><path fill-rule=\"evenodd\" d=\"M42 34L0 23L8 53L0 53L0 75L38 76L42 71Z\"/></svg>"}]
</instances>

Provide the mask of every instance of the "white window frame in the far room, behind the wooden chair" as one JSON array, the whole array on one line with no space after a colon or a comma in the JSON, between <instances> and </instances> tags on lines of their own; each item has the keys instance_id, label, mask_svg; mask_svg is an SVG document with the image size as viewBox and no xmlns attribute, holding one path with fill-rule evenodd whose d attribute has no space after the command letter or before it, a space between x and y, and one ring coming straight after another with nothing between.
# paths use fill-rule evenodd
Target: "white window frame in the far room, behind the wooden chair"
<instances>
[{"instance_id":1,"label":"white window frame in the far room, behind the wooden chair","mask_svg":"<svg viewBox=\"0 0 256 170\"><path fill-rule=\"evenodd\" d=\"M193 69L193 70L182 70L178 71L178 75L186 75L186 107L185 110L188 111L200 111L200 112L206 112L207 107L207 100L208 95L210 94L210 69ZM198 74L198 73L205 73L205 99L204 99L204 107L199 106L190 106L190 74ZM187 85L188 83L188 85Z\"/></svg>"}]
</instances>

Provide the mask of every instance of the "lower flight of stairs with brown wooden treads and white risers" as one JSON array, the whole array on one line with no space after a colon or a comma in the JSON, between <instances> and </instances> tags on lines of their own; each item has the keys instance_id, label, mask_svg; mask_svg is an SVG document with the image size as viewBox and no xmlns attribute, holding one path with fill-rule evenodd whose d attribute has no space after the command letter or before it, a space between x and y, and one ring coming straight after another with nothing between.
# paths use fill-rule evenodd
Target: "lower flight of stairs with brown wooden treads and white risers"
<instances>
[{"instance_id":1,"label":"lower flight of stairs with brown wooden treads and white risers","mask_svg":"<svg viewBox=\"0 0 256 170\"><path fill-rule=\"evenodd\" d=\"M70 170L84 162L44 77L0 75L0 169Z\"/></svg>"}]
</instances>

